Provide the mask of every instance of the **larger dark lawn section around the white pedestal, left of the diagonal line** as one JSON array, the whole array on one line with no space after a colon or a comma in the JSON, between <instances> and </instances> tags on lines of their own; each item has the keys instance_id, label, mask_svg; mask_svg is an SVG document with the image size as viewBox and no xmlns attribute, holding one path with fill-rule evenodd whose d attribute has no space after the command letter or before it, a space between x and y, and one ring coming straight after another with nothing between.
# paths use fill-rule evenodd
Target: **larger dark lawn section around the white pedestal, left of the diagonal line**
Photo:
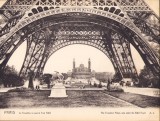
<instances>
[{"instance_id":1,"label":"larger dark lawn section around the white pedestal, left of the diagonal line","mask_svg":"<svg viewBox=\"0 0 160 121\"><path fill-rule=\"evenodd\" d=\"M0 108L134 107L101 91L67 91L67 98L48 98L49 95L49 90L0 93Z\"/></svg>"}]
</instances>

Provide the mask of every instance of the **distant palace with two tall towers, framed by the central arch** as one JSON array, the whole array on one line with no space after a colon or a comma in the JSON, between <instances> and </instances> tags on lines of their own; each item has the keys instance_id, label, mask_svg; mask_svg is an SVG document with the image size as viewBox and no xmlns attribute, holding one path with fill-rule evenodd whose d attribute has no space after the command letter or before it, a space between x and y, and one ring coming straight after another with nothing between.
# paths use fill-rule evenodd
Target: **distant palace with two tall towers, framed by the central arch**
<instances>
[{"instance_id":1,"label":"distant palace with two tall towers, framed by the central arch","mask_svg":"<svg viewBox=\"0 0 160 121\"><path fill-rule=\"evenodd\" d=\"M84 64L80 64L79 67L75 67L75 65L76 62L75 59L73 59L72 78L90 79L92 77L90 59L88 59L88 67L85 67Z\"/></svg>"}]
</instances>

